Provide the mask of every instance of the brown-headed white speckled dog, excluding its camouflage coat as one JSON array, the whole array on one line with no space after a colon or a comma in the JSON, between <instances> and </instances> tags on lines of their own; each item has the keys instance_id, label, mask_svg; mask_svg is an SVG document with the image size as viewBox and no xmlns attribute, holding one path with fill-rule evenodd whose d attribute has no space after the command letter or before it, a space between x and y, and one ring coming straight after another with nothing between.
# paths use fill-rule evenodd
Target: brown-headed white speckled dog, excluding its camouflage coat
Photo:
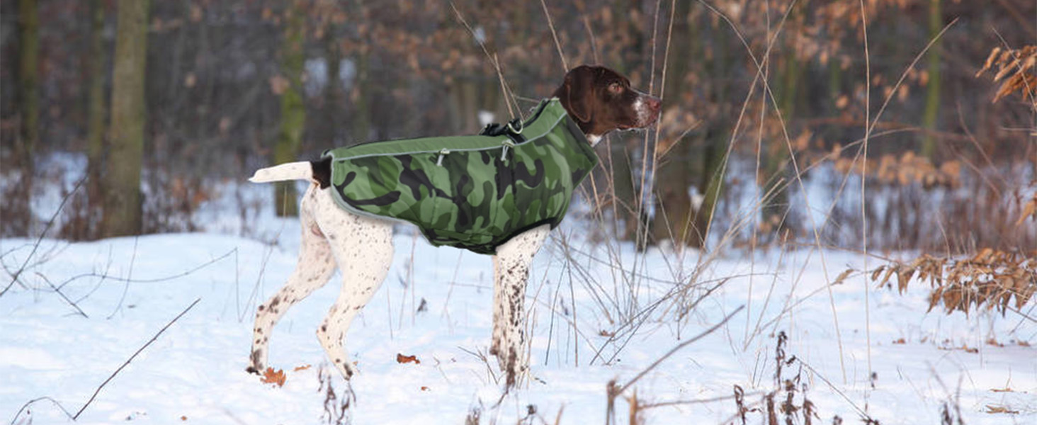
<instances>
[{"instance_id":1,"label":"brown-headed white speckled dog, excluding its camouflage coat","mask_svg":"<svg viewBox=\"0 0 1037 425\"><path fill-rule=\"evenodd\" d=\"M622 75L602 67L582 65L565 75L554 96L577 121L591 144L613 130L639 129L658 119L661 101L630 88ZM299 262L284 287L259 305L253 330L248 371L267 368L267 343L278 319L293 304L328 283L337 266L342 290L317 329L317 339L342 376L356 367L343 348L354 316L382 285L393 258L393 222L352 214L339 207L332 189L317 181L327 170L319 163L290 163L256 171L252 181L309 179L300 207L302 242ZM327 163L325 163L327 164ZM324 177L327 178L327 177ZM327 186L326 186L327 187ZM494 332L489 352L497 356L508 387L528 370L522 349L525 332L525 293L529 265L550 231L533 228L497 249L494 255Z\"/></svg>"}]
</instances>

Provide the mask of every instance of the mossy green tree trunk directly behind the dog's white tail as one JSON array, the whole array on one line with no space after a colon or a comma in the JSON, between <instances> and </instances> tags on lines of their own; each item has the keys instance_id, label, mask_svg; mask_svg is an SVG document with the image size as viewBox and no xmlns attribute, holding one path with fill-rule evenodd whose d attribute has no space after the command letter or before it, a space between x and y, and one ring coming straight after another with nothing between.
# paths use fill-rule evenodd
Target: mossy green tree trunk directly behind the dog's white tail
<instances>
[{"instance_id":1,"label":"mossy green tree trunk directly behind the dog's white tail","mask_svg":"<svg viewBox=\"0 0 1037 425\"><path fill-rule=\"evenodd\" d=\"M274 146L274 163L289 163L299 155L306 124L306 108L303 105L303 41L306 34L306 17L303 11L291 7L288 11L288 26L281 45L281 72L288 80L288 86L281 93L281 130L277 145ZM280 181L274 186L275 208L279 217L299 216L299 195L295 181Z\"/></svg>"}]
</instances>

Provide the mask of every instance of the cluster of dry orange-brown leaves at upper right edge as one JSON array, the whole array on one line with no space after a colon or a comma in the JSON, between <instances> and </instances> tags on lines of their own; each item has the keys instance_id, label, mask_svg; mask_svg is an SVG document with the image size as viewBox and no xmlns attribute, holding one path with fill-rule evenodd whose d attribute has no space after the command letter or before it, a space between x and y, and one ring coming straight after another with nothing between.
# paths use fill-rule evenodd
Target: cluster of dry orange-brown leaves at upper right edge
<instances>
[{"instance_id":1,"label":"cluster of dry orange-brown leaves at upper right edge","mask_svg":"<svg viewBox=\"0 0 1037 425\"><path fill-rule=\"evenodd\" d=\"M1024 101L1037 101L1037 46L1022 49L993 48L976 77L990 69L998 70L993 75L994 82L1003 81L998 93L993 95L993 102L1016 91Z\"/></svg>"}]
</instances>

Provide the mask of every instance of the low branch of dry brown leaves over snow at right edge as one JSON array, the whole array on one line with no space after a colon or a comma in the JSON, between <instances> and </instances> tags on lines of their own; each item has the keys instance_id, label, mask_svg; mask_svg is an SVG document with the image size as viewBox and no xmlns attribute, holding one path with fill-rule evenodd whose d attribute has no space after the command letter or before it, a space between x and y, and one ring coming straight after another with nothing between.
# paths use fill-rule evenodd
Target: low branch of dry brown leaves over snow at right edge
<instances>
[{"instance_id":1,"label":"low branch of dry brown leaves over snow at right edge","mask_svg":"<svg viewBox=\"0 0 1037 425\"><path fill-rule=\"evenodd\" d=\"M929 311L943 304L950 314L960 310L969 314L980 308L997 308L1004 315L1010 305L1018 310L1037 291L1037 256L984 249L965 259L934 257L928 254L909 262L893 261L871 271L871 280L903 292L912 279L928 281ZM1014 303L1013 303L1014 300Z\"/></svg>"}]
</instances>

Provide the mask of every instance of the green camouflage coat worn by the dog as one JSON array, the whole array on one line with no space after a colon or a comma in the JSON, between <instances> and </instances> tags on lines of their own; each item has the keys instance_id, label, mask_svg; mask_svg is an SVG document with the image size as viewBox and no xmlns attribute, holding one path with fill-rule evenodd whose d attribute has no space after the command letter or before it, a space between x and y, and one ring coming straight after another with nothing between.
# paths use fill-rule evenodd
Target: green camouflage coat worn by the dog
<instances>
[{"instance_id":1,"label":"green camouflage coat worn by the dog","mask_svg":"<svg viewBox=\"0 0 1037 425\"><path fill-rule=\"evenodd\" d=\"M418 225L436 246L494 254L531 228L565 217L597 155L558 98L525 122L477 136L365 143L325 151L338 204Z\"/></svg>"}]
</instances>

